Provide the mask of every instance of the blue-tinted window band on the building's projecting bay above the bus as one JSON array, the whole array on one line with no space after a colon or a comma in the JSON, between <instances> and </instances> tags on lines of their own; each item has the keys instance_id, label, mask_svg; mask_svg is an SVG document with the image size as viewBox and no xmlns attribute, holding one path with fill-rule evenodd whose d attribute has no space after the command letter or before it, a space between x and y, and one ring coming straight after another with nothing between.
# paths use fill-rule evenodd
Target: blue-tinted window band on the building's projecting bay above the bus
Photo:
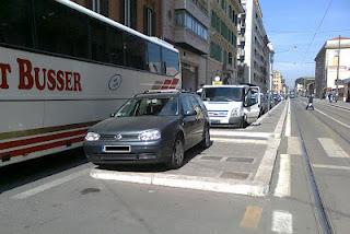
<instances>
[{"instance_id":1,"label":"blue-tinted window band on the building's projecting bay above the bus","mask_svg":"<svg viewBox=\"0 0 350 234\"><path fill-rule=\"evenodd\" d=\"M175 11L175 22L176 26L182 26L190 30L192 33L201 37L202 39L208 39L208 30L201 24L197 19L190 15L187 11L179 10Z\"/></svg>"}]
</instances>

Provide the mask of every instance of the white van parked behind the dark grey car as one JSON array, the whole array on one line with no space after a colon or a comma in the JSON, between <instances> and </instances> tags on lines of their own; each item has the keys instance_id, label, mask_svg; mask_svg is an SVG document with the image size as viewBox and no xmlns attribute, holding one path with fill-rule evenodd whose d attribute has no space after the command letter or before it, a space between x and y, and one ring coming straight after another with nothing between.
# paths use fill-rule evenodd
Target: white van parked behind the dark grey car
<instances>
[{"instance_id":1,"label":"white van parked behind the dark grey car","mask_svg":"<svg viewBox=\"0 0 350 234\"><path fill-rule=\"evenodd\" d=\"M201 98L211 125L245 127L260 114L260 89L252 85L205 85Z\"/></svg>"}]
</instances>

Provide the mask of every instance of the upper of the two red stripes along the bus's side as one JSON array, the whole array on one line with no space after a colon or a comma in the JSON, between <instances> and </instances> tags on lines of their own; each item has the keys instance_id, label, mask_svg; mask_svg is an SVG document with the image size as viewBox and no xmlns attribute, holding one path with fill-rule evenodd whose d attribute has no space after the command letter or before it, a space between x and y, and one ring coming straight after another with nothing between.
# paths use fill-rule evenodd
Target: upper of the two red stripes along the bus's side
<instances>
[{"instance_id":1,"label":"upper of the two red stripes along the bus's side","mask_svg":"<svg viewBox=\"0 0 350 234\"><path fill-rule=\"evenodd\" d=\"M34 143L45 142L45 141L51 141L51 140L61 139L61 138L74 137L77 134L84 134L86 133L86 131L88 131L86 129L83 129L83 130L77 130L77 131L69 131L69 132L30 138L24 140L9 141L9 142L0 143L0 150L22 147L27 144L34 144Z\"/></svg>"}]
</instances>

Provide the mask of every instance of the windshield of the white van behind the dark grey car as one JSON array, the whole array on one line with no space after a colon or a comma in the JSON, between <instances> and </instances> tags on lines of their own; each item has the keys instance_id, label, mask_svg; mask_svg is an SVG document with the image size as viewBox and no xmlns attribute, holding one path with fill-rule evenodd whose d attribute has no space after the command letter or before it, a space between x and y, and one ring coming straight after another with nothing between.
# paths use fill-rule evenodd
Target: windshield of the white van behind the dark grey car
<instances>
[{"instance_id":1,"label":"windshield of the white van behind the dark grey car","mask_svg":"<svg viewBox=\"0 0 350 234\"><path fill-rule=\"evenodd\" d=\"M241 87L206 87L202 92L202 98L212 102L241 102L243 94Z\"/></svg>"}]
</instances>

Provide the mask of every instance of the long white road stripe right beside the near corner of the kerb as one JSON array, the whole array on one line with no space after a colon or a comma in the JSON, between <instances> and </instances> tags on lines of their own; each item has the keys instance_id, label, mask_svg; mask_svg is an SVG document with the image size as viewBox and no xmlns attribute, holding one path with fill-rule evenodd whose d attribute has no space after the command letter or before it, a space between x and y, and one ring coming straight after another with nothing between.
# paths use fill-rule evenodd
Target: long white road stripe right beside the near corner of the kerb
<instances>
[{"instance_id":1,"label":"long white road stripe right beside the near corner of the kerb","mask_svg":"<svg viewBox=\"0 0 350 234\"><path fill-rule=\"evenodd\" d=\"M289 154L281 154L275 196L280 198L291 196L291 157Z\"/></svg>"}]
</instances>

